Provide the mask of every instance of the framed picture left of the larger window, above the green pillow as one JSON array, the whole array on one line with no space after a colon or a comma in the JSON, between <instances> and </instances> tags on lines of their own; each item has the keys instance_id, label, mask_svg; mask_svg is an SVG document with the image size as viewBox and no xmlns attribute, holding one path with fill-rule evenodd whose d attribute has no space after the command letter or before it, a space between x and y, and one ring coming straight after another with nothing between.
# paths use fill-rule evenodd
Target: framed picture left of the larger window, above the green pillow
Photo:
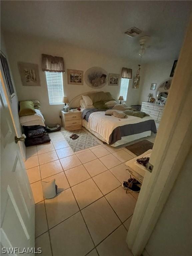
<instances>
[{"instance_id":1,"label":"framed picture left of the larger window, above the green pillow","mask_svg":"<svg viewBox=\"0 0 192 256\"><path fill-rule=\"evenodd\" d=\"M40 86L37 64L18 62L18 67L23 86Z\"/></svg>"}]
</instances>

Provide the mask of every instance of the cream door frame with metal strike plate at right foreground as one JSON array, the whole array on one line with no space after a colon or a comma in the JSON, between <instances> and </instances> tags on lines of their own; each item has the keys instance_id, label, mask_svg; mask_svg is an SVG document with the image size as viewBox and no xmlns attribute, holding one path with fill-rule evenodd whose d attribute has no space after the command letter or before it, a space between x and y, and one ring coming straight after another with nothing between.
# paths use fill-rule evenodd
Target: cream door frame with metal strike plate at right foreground
<instances>
[{"instance_id":1,"label":"cream door frame with metal strike plate at right foreground","mask_svg":"<svg viewBox=\"0 0 192 256\"><path fill-rule=\"evenodd\" d=\"M126 242L134 256L142 254L175 180L192 147L192 17L180 51L150 163L137 200Z\"/></svg>"}]
</instances>

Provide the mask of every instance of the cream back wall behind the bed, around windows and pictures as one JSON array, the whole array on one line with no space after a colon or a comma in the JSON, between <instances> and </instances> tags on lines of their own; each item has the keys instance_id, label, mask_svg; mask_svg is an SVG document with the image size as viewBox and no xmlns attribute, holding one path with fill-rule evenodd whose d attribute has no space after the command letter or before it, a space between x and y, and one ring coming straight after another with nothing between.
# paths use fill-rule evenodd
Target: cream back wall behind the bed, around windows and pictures
<instances>
[{"instance_id":1,"label":"cream back wall behind the bed, around windows and pictures","mask_svg":"<svg viewBox=\"0 0 192 256\"><path fill-rule=\"evenodd\" d=\"M65 69L79 69L85 71L94 66L104 68L108 73L121 73L122 67L133 69L133 75L136 73L137 64L133 61L103 55L83 48L66 45L63 42L51 41L42 38L29 38L20 35L5 34L6 47L10 58L10 64L15 80L16 90L19 100L38 99L42 104L41 111L45 117L46 123L60 123L59 112L63 105L49 105L48 91L46 85L45 72L41 71L41 54L50 54L64 58ZM110 47L110 45L109 45ZM21 83L17 62L29 62L39 65L39 74L41 80L40 87L24 87ZM84 85L68 85L67 73L63 75L64 95L69 100L75 96L94 91L91 87ZM104 86L100 91L111 92L117 98L119 96L119 86ZM98 90L98 91L99 91ZM128 89L127 104L138 104L140 89L132 89L132 80Z\"/></svg>"}]
</instances>

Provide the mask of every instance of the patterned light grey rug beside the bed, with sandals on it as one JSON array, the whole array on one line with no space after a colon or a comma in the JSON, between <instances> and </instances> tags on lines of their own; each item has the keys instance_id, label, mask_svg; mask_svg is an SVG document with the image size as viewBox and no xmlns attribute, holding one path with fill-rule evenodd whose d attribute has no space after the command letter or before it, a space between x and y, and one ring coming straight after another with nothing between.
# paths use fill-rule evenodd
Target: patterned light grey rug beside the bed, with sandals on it
<instances>
[{"instance_id":1,"label":"patterned light grey rug beside the bed, with sandals on it","mask_svg":"<svg viewBox=\"0 0 192 256\"><path fill-rule=\"evenodd\" d=\"M91 135L90 133L84 131L83 129L81 130L74 130L74 131L62 131L63 136L65 137L66 141L68 142L69 146L72 148L73 152L90 148L93 146L99 145L99 140ZM70 136L72 134L77 134L79 138L76 140L72 140Z\"/></svg>"}]
</instances>

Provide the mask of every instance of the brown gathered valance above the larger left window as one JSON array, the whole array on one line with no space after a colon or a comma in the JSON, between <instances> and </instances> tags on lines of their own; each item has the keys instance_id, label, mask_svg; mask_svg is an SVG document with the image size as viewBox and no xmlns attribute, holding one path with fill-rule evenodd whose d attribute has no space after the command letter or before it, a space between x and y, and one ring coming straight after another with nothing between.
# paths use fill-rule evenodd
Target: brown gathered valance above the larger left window
<instances>
[{"instance_id":1,"label":"brown gathered valance above the larger left window","mask_svg":"<svg viewBox=\"0 0 192 256\"><path fill-rule=\"evenodd\" d=\"M63 58L42 54L42 70L65 73Z\"/></svg>"}]
</instances>

